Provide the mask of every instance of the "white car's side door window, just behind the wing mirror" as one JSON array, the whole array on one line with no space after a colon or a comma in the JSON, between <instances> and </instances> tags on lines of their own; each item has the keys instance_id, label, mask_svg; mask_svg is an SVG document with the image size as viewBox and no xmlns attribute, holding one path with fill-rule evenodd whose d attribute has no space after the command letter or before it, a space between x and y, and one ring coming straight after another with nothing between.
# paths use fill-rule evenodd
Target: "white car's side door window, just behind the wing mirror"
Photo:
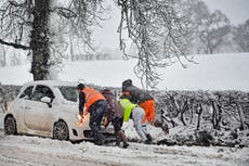
<instances>
[{"instance_id":1,"label":"white car's side door window, just behind the wing mirror","mask_svg":"<svg viewBox=\"0 0 249 166\"><path fill-rule=\"evenodd\" d=\"M32 94L32 100L41 101L41 98L43 98L43 97L49 97L51 99L51 102L54 99L54 94L49 87L37 86L35 91L34 91L34 94Z\"/></svg>"}]
</instances>

